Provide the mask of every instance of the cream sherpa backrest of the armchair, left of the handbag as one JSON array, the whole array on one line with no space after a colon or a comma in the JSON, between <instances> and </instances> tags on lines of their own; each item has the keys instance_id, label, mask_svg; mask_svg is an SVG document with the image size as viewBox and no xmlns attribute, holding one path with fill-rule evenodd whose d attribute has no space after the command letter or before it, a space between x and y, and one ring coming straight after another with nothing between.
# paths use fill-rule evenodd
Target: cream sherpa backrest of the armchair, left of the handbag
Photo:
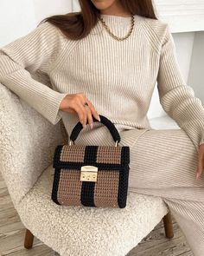
<instances>
[{"instance_id":1,"label":"cream sherpa backrest of the armchair, left of the handbag","mask_svg":"<svg viewBox=\"0 0 204 256\"><path fill-rule=\"evenodd\" d=\"M61 121L53 125L0 83L0 171L14 205L52 164L62 142Z\"/></svg>"}]
</instances>

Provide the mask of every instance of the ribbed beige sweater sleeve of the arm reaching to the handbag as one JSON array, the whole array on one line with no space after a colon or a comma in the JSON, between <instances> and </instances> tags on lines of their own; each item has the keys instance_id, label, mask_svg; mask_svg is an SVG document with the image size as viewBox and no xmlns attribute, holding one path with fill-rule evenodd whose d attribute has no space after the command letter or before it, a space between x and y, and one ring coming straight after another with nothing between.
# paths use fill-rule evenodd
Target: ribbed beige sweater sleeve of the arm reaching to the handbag
<instances>
[{"instance_id":1,"label":"ribbed beige sweater sleeve of the arm reaching to the handbag","mask_svg":"<svg viewBox=\"0 0 204 256\"><path fill-rule=\"evenodd\" d=\"M61 120L59 107L67 94L36 81L29 71L48 73L63 45L60 31L46 22L0 49L0 82L53 124Z\"/></svg>"}]
</instances>

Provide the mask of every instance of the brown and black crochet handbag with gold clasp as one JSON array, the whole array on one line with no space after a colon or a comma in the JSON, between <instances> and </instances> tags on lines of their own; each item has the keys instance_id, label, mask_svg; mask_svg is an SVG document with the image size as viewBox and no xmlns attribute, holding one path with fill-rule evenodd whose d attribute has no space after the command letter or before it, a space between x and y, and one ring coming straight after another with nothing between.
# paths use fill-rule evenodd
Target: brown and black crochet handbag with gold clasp
<instances>
[{"instance_id":1,"label":"brown and black crochet handbag with gold clasp","mask_svg":"<svg viewBox=\"0 0 204 256\"><path fill-rule=\"evenodd\" d=\"M74 141L83 128L79 121L72 130L69 144L55 148L51 198L58 205L126 207L130 147L119 146L118 129L105 116L99 117L111 132L115 145L75 144ZM99 121L94 116L92 120Z\"/></svg>"}]
</instances>

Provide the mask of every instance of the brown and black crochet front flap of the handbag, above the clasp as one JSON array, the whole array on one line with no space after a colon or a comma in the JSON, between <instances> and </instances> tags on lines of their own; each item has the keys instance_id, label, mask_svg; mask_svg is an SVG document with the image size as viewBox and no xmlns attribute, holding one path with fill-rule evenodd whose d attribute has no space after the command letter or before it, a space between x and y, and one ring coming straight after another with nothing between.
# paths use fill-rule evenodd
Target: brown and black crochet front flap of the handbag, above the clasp
<instances>
[{"instance_id":1,"label":"brown and black crochet front flap of the handbag, above the clasp","mask_svg":"<svg viewBox=\"0 0 204 256\"><path fill-rule=\"evenodd\" d=\"M54 151L54 168L79 168L92 165L100 169L118 169L130 163L128 146L58 145Z\"/></svg>"}]
</instances>

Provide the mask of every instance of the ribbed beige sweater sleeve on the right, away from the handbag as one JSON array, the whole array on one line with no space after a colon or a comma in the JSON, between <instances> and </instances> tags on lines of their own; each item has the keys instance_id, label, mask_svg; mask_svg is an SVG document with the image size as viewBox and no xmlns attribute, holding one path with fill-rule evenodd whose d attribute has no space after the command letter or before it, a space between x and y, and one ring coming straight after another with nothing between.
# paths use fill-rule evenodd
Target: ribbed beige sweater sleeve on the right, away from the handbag
<instances>
[{"instance_id":1,"label":"ribbed beige sweater sleeve on the right, away from the handbag","mask_svg":"<svg viewBox=\"0 0 204 256\"><path fill-rule=\"evenodd\" d=\"M161 48L157 88L164 111L176 121L198 150L204 143L204 108L186 84L178 64L175 42L166 24Z\"/></svg>"}]
</instances>

